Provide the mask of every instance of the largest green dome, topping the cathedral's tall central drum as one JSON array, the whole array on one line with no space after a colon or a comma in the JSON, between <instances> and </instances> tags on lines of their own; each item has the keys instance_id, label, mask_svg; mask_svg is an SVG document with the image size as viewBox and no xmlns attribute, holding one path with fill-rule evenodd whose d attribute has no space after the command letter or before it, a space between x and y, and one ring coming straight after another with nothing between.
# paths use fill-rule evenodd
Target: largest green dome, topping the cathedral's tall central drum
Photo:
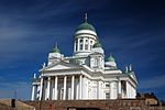
<instances>
[{"instance_id":1,"label":"largest green dome, topping the cathedral's tall central drum","mask_svg":"<svg viewBox=\"0 0 165 110\"><path fill-rule=\"evenodd\" d=\"M80 24L76 31L79 31L79 30L90 30L90 31L96 32L95 28L91 24L89 24L88 22Z\"/></svg>"}]
</instances>

